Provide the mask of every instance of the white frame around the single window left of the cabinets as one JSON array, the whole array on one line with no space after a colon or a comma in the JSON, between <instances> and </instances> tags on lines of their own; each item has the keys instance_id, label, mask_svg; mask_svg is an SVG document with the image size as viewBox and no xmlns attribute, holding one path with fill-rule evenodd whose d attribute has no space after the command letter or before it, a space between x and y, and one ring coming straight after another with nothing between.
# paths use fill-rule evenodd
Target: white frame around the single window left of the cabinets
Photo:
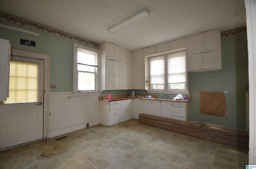
<instances>
[{"instance_id":1,"label":"white frame around the single window left of the cabinets","mask_svg":"<svg viewBox=\"0 0 256 169\"><path fill-rule=\"evenodd\" d=\"M100 50L94 49L91 47L87 47L84 45L79 45L77 43L74 43L73 45L73 96L80 96L80 95L96 95L100 93ZM96 84L96 90L78 90L78 49L84 49L92 53L97 53L97 68L95 73L95 84Z\"/></svg>"}]
</instances>

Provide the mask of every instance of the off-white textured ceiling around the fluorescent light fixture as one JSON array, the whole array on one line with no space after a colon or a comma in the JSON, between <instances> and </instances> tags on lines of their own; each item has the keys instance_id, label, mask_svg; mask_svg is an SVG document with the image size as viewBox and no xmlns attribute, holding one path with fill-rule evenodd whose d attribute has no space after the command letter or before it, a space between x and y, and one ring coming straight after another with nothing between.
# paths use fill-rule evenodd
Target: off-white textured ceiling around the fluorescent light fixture
<instances>
[{"instance_id":1,"label":"off-white textured ceiling around the fluorescent light fixture","mask_svg":"<svg viewBox=\"0 0 256 169\"><path fill-rule=\"evenodd\" d=\"M148 8L150 16L107 28ZM246 26L244 0L0 0L0 11L131 51L220 28Z\"/></svg>"}]
</instances>

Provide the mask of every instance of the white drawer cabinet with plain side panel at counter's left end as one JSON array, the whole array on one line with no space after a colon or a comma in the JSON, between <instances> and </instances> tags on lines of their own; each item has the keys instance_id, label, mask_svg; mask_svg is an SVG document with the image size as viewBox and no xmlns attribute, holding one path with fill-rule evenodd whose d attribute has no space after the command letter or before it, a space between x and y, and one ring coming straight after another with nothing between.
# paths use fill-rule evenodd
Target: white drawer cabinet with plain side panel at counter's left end
<instances>
[{"instance_id":1,"label":"white drawer cabinet with plain side panel at counter's left end","mask_svg":"<svg viewBox=\"0 0 256 169\"><path fill-rule=\"evenodd\" d=\"M112 126L119 123L120 101L100 102L100 124Z\"/></svg>"}]
</instances>

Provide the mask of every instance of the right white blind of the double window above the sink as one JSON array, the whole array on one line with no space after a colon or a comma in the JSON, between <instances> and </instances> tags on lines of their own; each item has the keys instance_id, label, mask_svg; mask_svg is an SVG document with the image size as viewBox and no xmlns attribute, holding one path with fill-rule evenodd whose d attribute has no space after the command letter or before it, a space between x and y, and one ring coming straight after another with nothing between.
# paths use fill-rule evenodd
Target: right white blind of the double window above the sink
<instances>
[{"instance_id":1,"label":"right white blind of the double window above the sink","mask_svg":"<svg viewBox=\"0 0 256 169\"><path fill-rule=\"evenodd\" d=\"M168 83L186 83L186 53L168 54Z\"/></svg>"}]
</instances>

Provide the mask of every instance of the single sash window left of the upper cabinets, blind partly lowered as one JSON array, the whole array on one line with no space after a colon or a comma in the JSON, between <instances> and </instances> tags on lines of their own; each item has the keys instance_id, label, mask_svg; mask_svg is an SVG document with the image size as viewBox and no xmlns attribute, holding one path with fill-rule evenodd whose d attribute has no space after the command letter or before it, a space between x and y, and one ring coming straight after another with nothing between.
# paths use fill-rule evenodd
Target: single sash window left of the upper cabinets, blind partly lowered
<instances>
[{"instance_id":1,"label":"single sash window left of the upper cabinets, blind partly lowered","mask_svg":"<svg viewBox=\"0 0 256 169\"><path fill-rule=\"evenodd\" d=\"M96 92L99 51L74 43L74 92Z\"/></svg>"}]
</instances>

